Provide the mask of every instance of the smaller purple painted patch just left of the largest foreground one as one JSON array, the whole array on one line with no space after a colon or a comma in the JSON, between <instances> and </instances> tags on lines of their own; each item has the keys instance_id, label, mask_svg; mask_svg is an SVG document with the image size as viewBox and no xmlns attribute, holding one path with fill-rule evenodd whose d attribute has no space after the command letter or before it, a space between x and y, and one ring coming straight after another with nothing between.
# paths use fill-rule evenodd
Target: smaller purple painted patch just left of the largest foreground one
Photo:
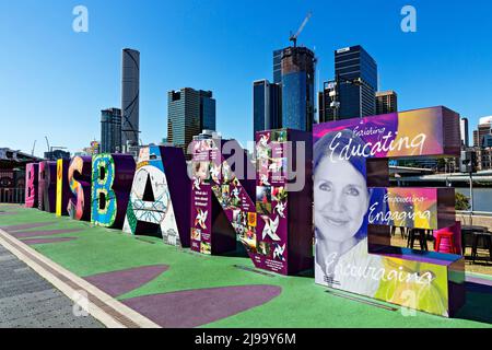
<instances>
[{"instance_id":1,"label":"smaller purple painted patch just left of the largest foreground one","mask_svg":"<svg viewBox=\"0 0 492 350\"><path fill-rule=\"evenodd\" d=\"M85 277L84 279L112 296L132 291L160 276L167 265L142 266Z\"/></svg>"}]
</instances>

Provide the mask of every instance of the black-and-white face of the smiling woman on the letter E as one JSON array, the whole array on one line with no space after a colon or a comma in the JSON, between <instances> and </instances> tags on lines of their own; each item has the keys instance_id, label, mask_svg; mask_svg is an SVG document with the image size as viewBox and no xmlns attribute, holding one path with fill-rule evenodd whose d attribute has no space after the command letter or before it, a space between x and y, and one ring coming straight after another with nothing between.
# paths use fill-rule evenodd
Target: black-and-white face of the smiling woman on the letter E
<instances>
[{"instance_id":1,"label":"black-and-white face of the smiling woman on the letter E","mask_svg":"<svg viewBox=\"0 0 492 350\"><path fill-rule=\"evenodd\" d=\"M367 211L366 180L349 161L325 156L315 172L314 199L319 238L347 241L358 233Z\"/></svg>"}]
</instances>

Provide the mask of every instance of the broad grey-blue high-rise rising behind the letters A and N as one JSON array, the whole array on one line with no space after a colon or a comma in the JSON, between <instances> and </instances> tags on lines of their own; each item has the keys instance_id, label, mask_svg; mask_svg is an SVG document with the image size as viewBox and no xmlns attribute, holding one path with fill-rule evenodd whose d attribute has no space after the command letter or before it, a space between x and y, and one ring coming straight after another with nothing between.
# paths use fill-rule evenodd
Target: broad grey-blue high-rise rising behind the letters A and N
<instances>
[{"instance_id":1,"label":"broad grey-blue high-rise rising behind the letters A and N","mask_svg":"<svg viewBox=\"0 0 492 350\"><path fill-rule=\"evenodd\" d=\"M167 141L187 151L194 136L215 130L215 100L211 91L184 88L167 92Z\"/></svg>"}]
</instances>

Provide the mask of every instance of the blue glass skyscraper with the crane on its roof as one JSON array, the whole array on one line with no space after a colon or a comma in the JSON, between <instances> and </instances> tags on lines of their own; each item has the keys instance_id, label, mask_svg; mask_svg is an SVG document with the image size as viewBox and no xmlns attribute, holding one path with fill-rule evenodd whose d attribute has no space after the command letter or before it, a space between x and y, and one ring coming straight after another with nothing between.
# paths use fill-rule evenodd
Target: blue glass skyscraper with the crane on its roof
<instances>
[{"instance_id":1,"label":"blue glass skyscraper with the crane on its roof","mask_svg":"<svg viewBox=\"0 0 492 350\"><path fill-rule=\"evenodd\" d=\"M316 59L306 47L282 51L282 128L311 131L314 122L314 80Z\"/></svg>"}]
</instances>

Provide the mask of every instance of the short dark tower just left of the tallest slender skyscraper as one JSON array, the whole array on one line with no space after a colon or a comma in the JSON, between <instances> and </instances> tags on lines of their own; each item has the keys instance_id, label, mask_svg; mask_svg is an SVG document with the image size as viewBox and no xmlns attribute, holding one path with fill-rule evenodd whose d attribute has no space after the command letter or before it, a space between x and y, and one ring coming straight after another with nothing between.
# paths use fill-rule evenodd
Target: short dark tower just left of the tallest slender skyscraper
<instances>
[{"instance_id":1,"label":"short dark tower just left of the tallest slender skyscraper","mask_svg":"<svg viewBox=\"0 0 492 350\"><path fill-rule=\"evenodd\" d=\"M101 110L101 152L121 152L121 109Z\"/></svg>"}]
</instances>

